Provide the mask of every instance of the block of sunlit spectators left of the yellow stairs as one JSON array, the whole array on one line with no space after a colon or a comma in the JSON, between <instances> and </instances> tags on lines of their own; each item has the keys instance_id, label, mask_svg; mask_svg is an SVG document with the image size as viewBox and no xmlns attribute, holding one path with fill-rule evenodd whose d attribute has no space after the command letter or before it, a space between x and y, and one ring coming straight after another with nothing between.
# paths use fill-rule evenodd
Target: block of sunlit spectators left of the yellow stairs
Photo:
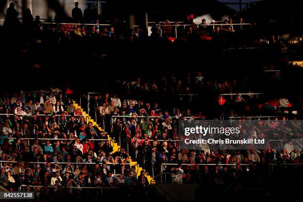
<instances>
[{"instance_id":1,"label":"block of sunlit spectators left of the yellow stairs","mask_svg":"<svg viewBox=\"0 0 303 202\"><path fill-rule=\"evenodd\" d=\"M107 135L86 122L73 101L62 99L58 88L48 94L24 94L20 91L1 98L2 187L18 191L20 186L29 185L21 190L38 191L38 198L46 200L65 192L74 197L86 192L97 197L99 193L72 189L77 187L149 186L144 171L137 178L128 153L122 148L113 152Z\"/></svg>"}]
</instances>

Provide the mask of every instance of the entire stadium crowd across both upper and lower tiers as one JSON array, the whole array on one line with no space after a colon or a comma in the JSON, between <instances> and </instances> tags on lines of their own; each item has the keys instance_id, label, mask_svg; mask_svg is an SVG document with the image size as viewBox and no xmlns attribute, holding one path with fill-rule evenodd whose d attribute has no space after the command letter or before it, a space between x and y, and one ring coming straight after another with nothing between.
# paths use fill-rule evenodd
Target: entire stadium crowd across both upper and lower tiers
<instances>
[{"instance_id":1,"label":"entire stadium crowd across both upper and lower tiers","mask_svg":"<svg viewBox=\"0 0 303 202\"><path fill-rule=\"evenodd\" d=\"M35 39L35 43L37 39L51 41L54 38L59 41L95 38L131 42L145 39L142 30L128 29L118 20L114 20L109 29L99 26L101 21L94 17L86 19L85 16L83 21L79 9L73 11L68 22L96 25L41 24L39 16L33 20L30 10L25 12L21 25L13 4L7 11L4 23L6 31L16 34L18 26L22 26L24 39ZM59 21L55 19L55 22ZM239 21L244 22L243 18ZM47 22L52 21L49 19ZM205 26L205 23L202 20L201 25L193 23L186 27L170 26L168 20L164 24L155 23L151 39L173 38L174 28L177 28L176 44L178 40L210 39L220 44L231 39L233 42L227 43L229 47L234 46L235 40L239 42L237 44L247 40L247 44L253 47L261 46L257 23L247 29L241 25L229 25L233 23L232 18L225 20L223 23L226 25L222 26L216 26L213 24L215 22L211 22L213 26ZM267 36L267 39L266 44L280 43L274 35ZM272 64L263 65L262 68L276 70ZM253 92L264 86L264 83L255 82L260 79L259 74L250 75L255 80L239 75L230 78L221 75L218 78L217 75L210 77L201 70L184 74L176 71L158 75L155 79L137 77L135 81L115 81L108 85L110 88L105 91L108 93L91 95L89 100L87 95L82 95L82 108L88 110L89 106L90 115L105 132L85 120L81 109L74 106L72 98L78 98L73 97L70 90L63 92L52 87L49 93L42 90L38 93L5 92L0 95L0 185L10 191L34 190L41 201L47 201L48 197L101 197L98 189L85 187L104 188L103 193L108 193L108 196L115 193L110 191L111 188L144 194L149 187L146 173L143 170L137 177L135 165L130 164L131 157L149 175L156 176L164 171L169 173L165 179L173 183L208 183L207 188L201 186L202 191L266 186L278 179L288 183L287 178L290 177L298 177L298 182L292 186L301 186L302 180L299 178L302 178L302 174L299 173L302 172L300 163L303 155L300 138L303 129L301 122L296 119L302 116L303 100L300 95L288 97L282 93L280 96L259 95L260 98L257 98ZM262 78L277 87L272 88L273 92L282 91L280 87L285 81L279 71L264 73ZM256 86L259 88L254 89ZM247 151L215 150L211 147L180 149L179 119L220 121L229 120L230 117L245 119L250 115L275 118L255 128L243 127L242 133L282 139L282 144L276 141L276 144L269 144L267 149ZM293 121L288 122L287 119ZM262 133L261 129L268 130ZM120 144L119 151L113 151L113 142L108 137ZM212 165L201 166L199 163Z\"/></svg>"}]
</instances>

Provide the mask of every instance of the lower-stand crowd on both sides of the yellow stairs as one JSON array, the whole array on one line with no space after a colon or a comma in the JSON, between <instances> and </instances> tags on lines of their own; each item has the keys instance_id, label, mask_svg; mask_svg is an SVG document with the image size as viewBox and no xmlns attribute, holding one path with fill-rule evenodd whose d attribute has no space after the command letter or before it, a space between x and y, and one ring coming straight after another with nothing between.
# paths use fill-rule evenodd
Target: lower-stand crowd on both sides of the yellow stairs
<instances>
[{"instance_id":1,"label":"lower-stand crowd on both sides of the yellow stairs","mask_svg":"<svg viewBox=\"0 0 303 202\"><path fill-rule=\"evenodd\" d=\"M202 72L191 75L189 72L183 79L171 74L151 83L141 82L138 77L134 82L121 84L122 94L92 95L88 103L90 113L92 116L97 114L101 126L104 121L106 133L93 126L92 122L86 122L81 109L76 108L70 99L69 89L62 92L52 87L49 93L43 90L38 93L3 93L0 105L0 160L3 161L1 186L17 190L20 185L32 185L40 194L48 189L47 186L65 187L65 191L73 190L70 194L75 197L81 195L81 192L70 188L145 189L149 186L146 173L143 171L137 178L135 165L130 164L129 157L137 160L150 175L156 176L161 171L171 172L171 178L167 179L175 183L202 183L208 180L221 188L235 184L247 186L246 182L255 185L271 179L277 172L294 170L293 173L297 173L302 169L300 165L280 166L302 163L302 128L301 122L296 121L302 111L300 99L291 100L293 106L290 106L290 101L285 97L259 100L253 95L241 97L236 94L221 98L217 96L220 93L230 93L233 89L240 92L241 85L236 80L232 84L229 80L223 84L212 83L204 78ZM157 85L158 82L162 82L161 85ZM183 85L183 82L188 83ZM177 105L169 105L165 99L154 100L161 98L155 96L157 93L170 90L181 93L183 88L183 99ZM189 93L190 88L211 89L215 98L212 102L219 110L210 109L209 113L204 113L202 107L193 109L193 100L199 98ZM241 89L242 92L246 90L245 87ZM152 102L141 99L139 95L145 95L145 98L151 98L148 95L152 95ZM83 108L87 106L84 101L82 99ZM277 141L268 144L267 149L247 151L218 150L211 146L199 150L181 150L178 144L179 119L229 120L230 117L245 119L248 115L262 114L274 115L276 118L267 120L263 125L257 124L254 128L243 127L241 132L257 137L268 136L274 140L282 139L282 144ZM287 122L288 118L294 120ZM113 152L108 137L120 144L120 151ZM64 164L60 164L62 162ZM175 166L163 163L174 163ZM198 163L233 166L199 166ZM271 164L279 166L270 167Z\"/></svg>"}]
</instances>

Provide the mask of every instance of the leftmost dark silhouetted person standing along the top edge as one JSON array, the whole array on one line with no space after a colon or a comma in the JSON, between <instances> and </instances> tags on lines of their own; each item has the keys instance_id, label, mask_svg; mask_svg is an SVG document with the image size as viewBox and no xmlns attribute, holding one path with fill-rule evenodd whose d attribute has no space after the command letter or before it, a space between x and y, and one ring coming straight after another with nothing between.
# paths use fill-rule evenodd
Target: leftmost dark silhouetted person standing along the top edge
<instances>
[{"instance_id":1,"label":"leftmost dark silhouetted person standing along the top edge","mask_svg":"<svg viewBox=\"0 0 303 202\"><path fill-rule=\"evenodd\" d=\"M20 28L21 24L19 22L18 15L19 13L15 9L15 4L10 3L9 7L6 9L5 20L3 24L3 27L7 32L14 33Z\"/></svg>"}]
</instances>

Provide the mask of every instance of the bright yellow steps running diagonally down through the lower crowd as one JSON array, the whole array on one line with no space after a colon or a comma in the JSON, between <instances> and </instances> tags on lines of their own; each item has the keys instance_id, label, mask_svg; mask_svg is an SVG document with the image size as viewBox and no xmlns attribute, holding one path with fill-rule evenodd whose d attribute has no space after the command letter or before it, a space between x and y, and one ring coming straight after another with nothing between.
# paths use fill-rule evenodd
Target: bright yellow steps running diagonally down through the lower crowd
<instances>
[{"instance_id":1,"label":"bright yellow steps running diagonally down through the lower crowd","mask_svg":"<svg viewBox=\"0 0 303 202\"><path fill-rule=\"evenodd\" d=\"M89 122L89 121L93 122L93 125L97 126L98 129L101 132L105 132L106 133L106 131L104 131L101 127L99 127L99 125L97 124L97 121L95 121L92 117L90 117L89 114L86 113L86 111L84 111L82 109L82 107L76 101L73 101L73 102L74 102L74 105L75 105L76 108L80 108L81 109L82 113L84 114L84 118L85 118L85 120L87 122ZM113 143L113 145L112 145L113 152L118 152L120 150L120 146L117 143L115 143L114 141L111 141L110 137L108 137L108 140ZM136 173L137 173L137 177L138 177L140 175L140 173L141 173L141 170L143 170L143 168L140 167L140 165L137 163L137 161L133 161L131 159L131 157L130 157L130 163L133 164L133 165L135 165L135 167L136 167ZM151 183L152 177L149 174L147 175L147 179L148 179L149 183ZM154 184L154 183L155 182L152 181L152 184Z\"/></svg>"}]
</instances>

